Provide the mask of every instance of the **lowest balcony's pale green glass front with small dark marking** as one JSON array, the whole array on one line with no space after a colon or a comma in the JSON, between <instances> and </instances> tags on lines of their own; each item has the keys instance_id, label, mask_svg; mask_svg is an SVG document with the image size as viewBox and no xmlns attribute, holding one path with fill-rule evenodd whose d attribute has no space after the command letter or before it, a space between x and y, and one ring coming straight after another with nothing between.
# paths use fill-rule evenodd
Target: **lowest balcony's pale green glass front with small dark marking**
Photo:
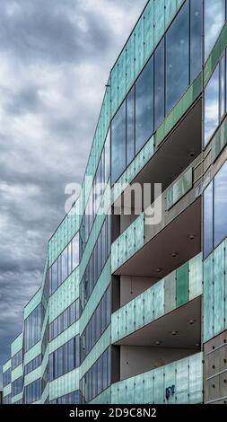
<instances>
[{"instance_id":1,"label":"lowest balcony's pale green glass front with small dark marking","mask_svg":"<svg viewBox=\"0 0 227 422\"><path fill-rule=\"evenodd\" d=\"M112 384L92 404L192 404L203 402L203 354Z\"/></svg>"}]
</instances>

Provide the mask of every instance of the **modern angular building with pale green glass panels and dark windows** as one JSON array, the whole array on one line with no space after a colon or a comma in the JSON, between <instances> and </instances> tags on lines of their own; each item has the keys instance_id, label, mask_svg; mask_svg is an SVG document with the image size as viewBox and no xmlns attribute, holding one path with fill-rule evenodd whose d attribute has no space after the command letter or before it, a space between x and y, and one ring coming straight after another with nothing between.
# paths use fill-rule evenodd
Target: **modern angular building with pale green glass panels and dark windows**
<instances>
[{"instance_id":1,"label":"modern angular building with pale green glass panels and dark windows","mask_svg":"<svg viewBox=\"0 0 227 422\"><path fill-rule=\"evenodd\" d=\"M24 308L4 403L227 402L226 7L146 4ZM141 209L135 186L152 187Z\"/></svg>"}]
</instances>

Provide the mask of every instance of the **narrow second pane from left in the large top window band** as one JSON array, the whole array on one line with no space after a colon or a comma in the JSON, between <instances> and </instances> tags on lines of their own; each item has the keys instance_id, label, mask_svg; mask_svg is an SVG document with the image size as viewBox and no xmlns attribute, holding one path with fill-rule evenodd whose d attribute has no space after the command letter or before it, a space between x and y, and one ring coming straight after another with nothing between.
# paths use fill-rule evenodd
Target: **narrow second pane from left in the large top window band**
<instances>
[{"instance_id":1,"label":"narrow second pane from left in the large top window band","mask_svg":"<svg viewBox=\"0 0 227 422\"><path fill-rule=\"evenodd\" d=\"M127 95L127 165L135 156L135 87Z\"/></svg>"}]
</instances>

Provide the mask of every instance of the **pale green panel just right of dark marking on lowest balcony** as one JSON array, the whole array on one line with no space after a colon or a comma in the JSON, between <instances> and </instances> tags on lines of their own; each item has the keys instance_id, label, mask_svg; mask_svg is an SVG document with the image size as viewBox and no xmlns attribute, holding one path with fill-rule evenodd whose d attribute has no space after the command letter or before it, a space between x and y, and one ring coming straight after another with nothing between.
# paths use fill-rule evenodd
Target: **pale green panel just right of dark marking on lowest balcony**
<instances>
[{"instance_id":1,"label":"pale green panel just right of dark marking on lowest balcony","mask_svg":"<svg viewBox=\"0 0 227 422\"><path fill-rule=\"evenodd\" d=\"M189 369L188 359L182 359L176 363L176 402L178 404L188 403L189 393Z\"/></svg>"}]
</instances>

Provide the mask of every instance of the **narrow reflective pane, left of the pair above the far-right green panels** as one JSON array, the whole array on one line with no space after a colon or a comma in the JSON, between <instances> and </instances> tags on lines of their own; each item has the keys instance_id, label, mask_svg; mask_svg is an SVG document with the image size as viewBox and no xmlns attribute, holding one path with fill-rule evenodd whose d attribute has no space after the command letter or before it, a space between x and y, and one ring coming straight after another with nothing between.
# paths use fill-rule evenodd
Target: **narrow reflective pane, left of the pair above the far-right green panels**
<instances>
[{"instance_id":1,"label":"narrow reflective pane, left of the pair above the far-right green panels","mask_svg":"<svg viewBox=\"0 0 227 422\"><path fill-rule=\"evenodd\" d=\"M213 182L204 193L204 257L213 250Z\"/></svg>"}]
</instances>

